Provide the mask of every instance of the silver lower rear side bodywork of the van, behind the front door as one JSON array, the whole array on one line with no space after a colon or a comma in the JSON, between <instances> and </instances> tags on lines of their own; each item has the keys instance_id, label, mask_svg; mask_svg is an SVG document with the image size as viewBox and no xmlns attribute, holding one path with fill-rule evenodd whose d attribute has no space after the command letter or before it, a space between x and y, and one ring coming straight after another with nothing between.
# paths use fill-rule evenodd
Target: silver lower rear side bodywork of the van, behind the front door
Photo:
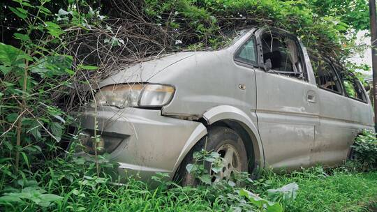
<instances>
[{"instance_id":1,"label":"silver lower rear side bodywork of the van, behind the front door","mask_svg":"<svg viewBox=\"0 0 377 212\"><path fill-rule=\"evenodd\" d=\"M346 160L350 146L363 129L374 130L371 106L358 100L320 91L320 127L313 160L336 165Z\"/></svg>"}]
</instances>

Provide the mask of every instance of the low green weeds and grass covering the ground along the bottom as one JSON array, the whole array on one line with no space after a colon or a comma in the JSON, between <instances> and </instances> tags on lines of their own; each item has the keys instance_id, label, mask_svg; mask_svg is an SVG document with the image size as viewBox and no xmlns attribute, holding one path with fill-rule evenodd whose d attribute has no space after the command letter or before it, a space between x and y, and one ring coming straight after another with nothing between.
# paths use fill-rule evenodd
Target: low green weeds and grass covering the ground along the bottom
<instances>
[{"instance_id":1,"label":"low green weeds and grass covering the ground along the bottom","mask_svg":"<svg viewBox=\"0 0 377 212\"><path fill-rule=\"evenodd\" d=\"M94 163L56 158L34 179L20 179L12 187L1 183L0 204L4 211L267 211L269 206L275 206L272 211L367 211L377 198L377 172L360 173L357 166L290 174L266 170L260 179L247 181L246 190L226 182L181 187L157 174L158 187L151 188L132 178L113 185L108 175L96 176Z\"/></svg>"}]
</instances>

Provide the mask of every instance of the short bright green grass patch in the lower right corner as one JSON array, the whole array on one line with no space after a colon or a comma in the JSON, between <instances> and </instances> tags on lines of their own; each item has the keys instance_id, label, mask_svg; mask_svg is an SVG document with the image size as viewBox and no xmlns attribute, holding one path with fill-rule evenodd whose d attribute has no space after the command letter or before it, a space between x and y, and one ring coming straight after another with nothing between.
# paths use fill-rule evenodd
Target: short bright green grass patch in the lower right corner
<instances>
[{"instance_id":1,"label":"short bright green grass patch in the lower right corner","mask_svg":"<svg viewBox=\"0 0 377 212\"><path fill-rule=\"evenodd\" d=\"M272 188L293 181L299 185L289 211L368 211L376 205L377 172L334 172L327 176L321 168L316 169L283 176L270 174L266 179Z\"/></svg>"}]
</instances>

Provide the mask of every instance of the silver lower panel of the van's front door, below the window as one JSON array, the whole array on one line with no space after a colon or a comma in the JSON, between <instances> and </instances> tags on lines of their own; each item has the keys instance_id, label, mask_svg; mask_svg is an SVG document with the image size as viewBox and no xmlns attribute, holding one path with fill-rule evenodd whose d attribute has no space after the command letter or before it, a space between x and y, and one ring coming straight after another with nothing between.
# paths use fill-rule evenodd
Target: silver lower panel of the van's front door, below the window
<instances>
[{"instance_id":1,"label":"silver lower panel of the van's front door, below the window","mask_svg":"<svg viewBox=\"0 0 377 212\"><path fill-rule=\"evenodd\" d=\"M311 165L318 123L317 87L295 77L256 71L258 129L266 167L295 169Z\"/></svg>"}]
</instances>

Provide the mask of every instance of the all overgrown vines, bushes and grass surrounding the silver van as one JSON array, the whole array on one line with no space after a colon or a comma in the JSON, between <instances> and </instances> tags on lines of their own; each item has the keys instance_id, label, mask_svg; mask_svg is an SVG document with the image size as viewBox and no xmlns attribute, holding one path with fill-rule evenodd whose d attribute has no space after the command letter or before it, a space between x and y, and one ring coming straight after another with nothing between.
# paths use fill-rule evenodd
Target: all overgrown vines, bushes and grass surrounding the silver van
<instances>
[{"instance_id":1,"label":"all overgrown vines, bushes and grass surrounding the silver van","mask_svg":"<svg viewBox=\"0 0 377 212\"><path fill-rule=\"evenodd\" d=\"M339 3L324 4L319 10L320 2L0 3L2 25L12 32L1 33L0 43L0 210L340 211L349 204L355 210L367 207L364 204L376 199L376 172L354 174L353 169L343 168L327 174L317 167L283 176L265 172L257 181L239 173L236 179L248 185L246 190L232 181L181 187L163 181L160 174L154 177L160 183L156 189L133 179L119 187L110 183L118 179L111 178L110 164L100 165L100 156L89 162L61 149L64 140L76 136L67 133L75 123L68 112L88 102L102 77L168 52L217 49L229 41L228 33L251 25L281 27L300 36L313 50L344 61L356 49L354 37L344 34L365 29L359 25L364 24L364 13L344 15L334 10ZM353 11L364 8L362 1L355 2ZM197 156L219 160L211 153ZM376 168L374 135L357 139L355 158L362 162L362 171ZM200 165L192 165L191 171L203 183L212 184ZM337 185L334 191L332 186ZM308 204L310 194L313 202L327 204Z\"/></svg>"}]
</instances>

